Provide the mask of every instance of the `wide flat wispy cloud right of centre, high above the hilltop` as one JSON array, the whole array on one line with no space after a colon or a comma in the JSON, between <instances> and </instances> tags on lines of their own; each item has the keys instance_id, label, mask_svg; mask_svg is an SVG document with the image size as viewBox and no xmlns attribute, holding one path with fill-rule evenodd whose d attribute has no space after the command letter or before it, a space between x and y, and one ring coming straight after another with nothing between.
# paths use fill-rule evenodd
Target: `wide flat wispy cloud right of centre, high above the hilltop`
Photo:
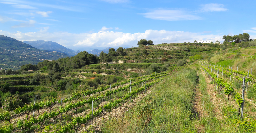
<instances>
[{"instance_id":1,"label":"wide flat wispy cloud right of centre, high above the hilltop","mask_svg":"<svg viewBox=\"0 0 256 133\"><path fill-rule=\"evenodd\" d=\"M167 21L178 21L178 20L200 20L199 16L192 15L183 10L154 10L148 13L142 13L145 18L155 20L167 20Z\"/></svg>"}]
</instances>

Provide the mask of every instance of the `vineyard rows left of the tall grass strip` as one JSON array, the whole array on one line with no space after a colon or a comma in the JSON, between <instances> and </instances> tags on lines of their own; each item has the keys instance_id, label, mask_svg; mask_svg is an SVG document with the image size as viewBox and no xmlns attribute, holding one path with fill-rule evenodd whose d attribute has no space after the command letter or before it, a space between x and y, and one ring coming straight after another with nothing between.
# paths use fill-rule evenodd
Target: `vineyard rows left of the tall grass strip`
<instances>
[{"instance_id":1,"label":"vineyard rows left of the tall grass strip","mask_svg":"<svg viewBox=\"0 0 256 133\"><path fill-rule=\"evenodd\" d=\"M35 104L25 104L23 107L0 114L2 121L0 131L11 133L21 130L28 133L38 125L38 131L52 132L46 130L48 124L46 125L45 121L48 121L49 124L60 126L55 129L57 133L66 133L72 129L77 132L80 128L86 128L89 123L93 125L91 120L96 121L97 117L101 115L104 117L107 112L124 106L126 102L132 102L138 94L143 95L165 76L167 73L163 72L137 79L131 78L110 86L73 93L70 98L52 98L35 102ZM92 106L92 109L88 109L89 106ZM81 109L82 112L78 112ZM75 112L73 113L72 110ZM68 119L67 116L72 118Z\"/></svg>"}]
</instances>

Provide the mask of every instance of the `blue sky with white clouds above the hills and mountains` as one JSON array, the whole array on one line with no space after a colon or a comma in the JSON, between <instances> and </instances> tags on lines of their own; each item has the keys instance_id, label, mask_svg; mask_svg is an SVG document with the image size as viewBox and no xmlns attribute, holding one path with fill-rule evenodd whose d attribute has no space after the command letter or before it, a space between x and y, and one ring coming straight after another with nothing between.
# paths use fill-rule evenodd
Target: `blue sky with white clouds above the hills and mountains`
<instances>
[{"instance_id":1,"label":"blue sky with white clouds above the hills and mountains","mask_svg":"<svg viewBox=\"0 0 256 133\"><path fill-rule=\"evenodd\" d=\"M256 1L238 0L0 0L0 35L46 40L73 50L256 39Z\"/></svg>"}]
</instances>

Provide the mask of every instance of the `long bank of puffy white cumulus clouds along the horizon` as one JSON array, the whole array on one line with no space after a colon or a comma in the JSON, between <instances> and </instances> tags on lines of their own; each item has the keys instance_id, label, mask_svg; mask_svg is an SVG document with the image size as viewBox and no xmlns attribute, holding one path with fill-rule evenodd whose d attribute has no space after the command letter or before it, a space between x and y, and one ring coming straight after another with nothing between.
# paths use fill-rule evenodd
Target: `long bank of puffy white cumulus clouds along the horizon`
<instances>
[{"instance_id":1,"label":"long bank of puffy white cumulus clouds along the horizon","mask_svg":"<svg viewBox=\"0 0 256 133\"><path fill-rule=\"evenodd\" d=\"M49 27L42 28L38 32L22 33L17 31L9 33L0 31L1 35L9 36L20 41L48 40L57 42L65 47L72 49L86 47L136 47L140 39L152 40L154 44L194 42L194 40L211 40L215 42L223 35L192 33L185 31L167 30L146 30L144 33L123 33L113 31L99 31L97 33L68 33L53 32L49 33Z\"/></svg>"}]
</instances>

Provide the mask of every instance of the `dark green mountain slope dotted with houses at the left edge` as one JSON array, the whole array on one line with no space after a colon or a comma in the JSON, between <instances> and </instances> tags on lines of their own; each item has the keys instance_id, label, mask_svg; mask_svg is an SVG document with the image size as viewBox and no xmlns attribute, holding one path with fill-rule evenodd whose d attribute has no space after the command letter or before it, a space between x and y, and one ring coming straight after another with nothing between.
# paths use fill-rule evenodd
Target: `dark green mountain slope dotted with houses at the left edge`
<instances>
[{"instance_id":1,"label":"dark green mountain slope dotted with houses at the left edge","mask_svg":"<svg viewBox=\"0 0 256 133\"><path fill-rule=\"evenodd\" d=\"M41 60L68 57L65 53L39 50L16 39L0 35L0 68L18 69L24 64L37 64Z\"/></svg>"}]
</instances>

